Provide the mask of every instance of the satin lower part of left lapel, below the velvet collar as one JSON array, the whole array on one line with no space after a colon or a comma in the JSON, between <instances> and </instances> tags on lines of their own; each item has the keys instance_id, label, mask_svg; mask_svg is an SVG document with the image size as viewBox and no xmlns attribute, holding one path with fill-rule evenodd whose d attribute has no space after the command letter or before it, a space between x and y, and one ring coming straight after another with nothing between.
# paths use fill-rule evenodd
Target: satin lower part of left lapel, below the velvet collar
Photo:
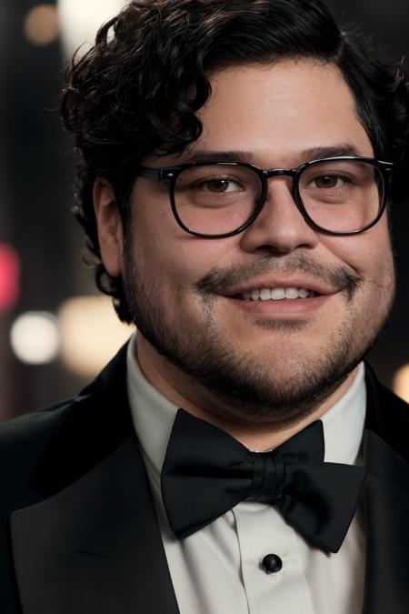
<instances>
[{"instance_id":1,"label":"satin lower part of left lapel, below the velvet collar","mask_svg":"<svg viewBox=\"0 0 409 614\"><path fill-rule=\"evenodd\" d=\"M24 614L178 613L135 438L11 528Z\"/></svg>"}]
</instances>

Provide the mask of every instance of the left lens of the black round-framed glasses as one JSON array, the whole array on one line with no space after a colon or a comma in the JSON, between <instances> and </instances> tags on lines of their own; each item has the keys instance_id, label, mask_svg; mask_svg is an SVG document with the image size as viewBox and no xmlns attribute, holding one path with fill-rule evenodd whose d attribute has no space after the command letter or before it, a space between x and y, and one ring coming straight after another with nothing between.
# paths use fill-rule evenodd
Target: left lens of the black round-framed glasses
<instances>
[{"instance_id":1,"label":"left lens of the black round-framed glasses","mask_svg":"<svg viewBox=\"0 0 409 614\"><path fill-rule=\"evenodd\" d=\"M243 226L260 200L254 171L236 165L199 165L175 182L175 209L181 222L203 235L224 235Z\"/></svg>"}]
</instances>

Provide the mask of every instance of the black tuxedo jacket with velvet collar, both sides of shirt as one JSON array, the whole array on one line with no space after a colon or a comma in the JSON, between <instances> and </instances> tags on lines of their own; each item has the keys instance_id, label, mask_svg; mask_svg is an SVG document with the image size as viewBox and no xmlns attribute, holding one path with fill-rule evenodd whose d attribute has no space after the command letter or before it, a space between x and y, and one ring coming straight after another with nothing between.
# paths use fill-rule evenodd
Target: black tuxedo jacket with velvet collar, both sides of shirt
<instances>
[{"instance_id":1,"label":"black tuxedo jacket with velvet collar, both sides of shirt","mask_svg":"<svg viewBox=\"0 0 409 614\"><path fill-rule=\"evenodd\" d=\"M408 614L408 406L368 371L364 614ZM179 611L125 374L123 348L79 397L1 425L2 613Z\"/></svg>"}]
</instances>

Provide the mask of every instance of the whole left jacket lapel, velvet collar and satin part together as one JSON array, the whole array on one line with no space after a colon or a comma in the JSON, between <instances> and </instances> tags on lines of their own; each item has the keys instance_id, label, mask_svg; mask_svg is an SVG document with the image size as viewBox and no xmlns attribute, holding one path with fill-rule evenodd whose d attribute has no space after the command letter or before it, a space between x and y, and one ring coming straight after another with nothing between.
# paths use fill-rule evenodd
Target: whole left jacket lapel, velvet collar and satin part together
<instances>
[{"instance_id":1,"label":"whole left jacket lapel, velvet collar and satin part together","mask_svg":"<svg viewBox=\"0 0 409 614\"><path fill-rule=\"evenodd\" d=\"M11 516L24 614L178 614L125 350L67 408L33 483L46 498Z\"/></svg>"}]
</instances>

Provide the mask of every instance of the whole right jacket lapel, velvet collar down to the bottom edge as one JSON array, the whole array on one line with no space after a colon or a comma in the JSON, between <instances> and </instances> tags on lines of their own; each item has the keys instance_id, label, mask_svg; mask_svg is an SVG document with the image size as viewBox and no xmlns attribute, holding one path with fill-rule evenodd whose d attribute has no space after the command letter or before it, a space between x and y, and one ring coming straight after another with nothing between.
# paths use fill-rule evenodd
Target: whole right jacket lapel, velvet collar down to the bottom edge
<instances>
[{"instance_id":1,"label":"whole right jacket lapel, velvet collar down to the bottom edge","mask_svg":"<svg viewBox=\"0 0 409 614\"><path fill-rule=\"evenodd\" d=\"M367 378L364 434L366 568L363 614L409 611L409 464L406 404ZM376 432L377 431L377 432ZM382 437L380 436L382 433ZM385 440L386 439L386 440ZM389 441L389 443L388 443Z\"/></svg>"}]
</instances>

